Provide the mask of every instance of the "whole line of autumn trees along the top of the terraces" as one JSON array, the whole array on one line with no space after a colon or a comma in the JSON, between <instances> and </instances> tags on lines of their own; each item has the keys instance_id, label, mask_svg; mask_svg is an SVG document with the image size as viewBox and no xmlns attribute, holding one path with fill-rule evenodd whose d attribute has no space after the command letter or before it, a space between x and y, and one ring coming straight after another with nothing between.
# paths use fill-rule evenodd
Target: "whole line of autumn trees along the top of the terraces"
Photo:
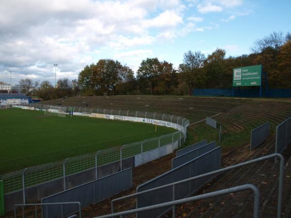
<instances>
[{"instance_id":1,"label":"whole line of autumn trees along the top of the terraces","mask_svg":"<svg viewBox=\"0 0 291 218\"><path fill-rule=\"evenodd\" d=\"M43 81L31 84L24 92L35 93L44 100L72 95L191 95L194 88L232 88L233 68L257 64L262 64L263 72L268 73L269 88L291 89L291 33L272 32L256 40L251 50L251 54L238 57L226 57L221 48L208 56L189 50L177 69L170 62L147 58L141 62L136 76L116 60L101 59L85 66L78 79L59 79L55 88L49 81Z\"/></svg>"}]
</instances>

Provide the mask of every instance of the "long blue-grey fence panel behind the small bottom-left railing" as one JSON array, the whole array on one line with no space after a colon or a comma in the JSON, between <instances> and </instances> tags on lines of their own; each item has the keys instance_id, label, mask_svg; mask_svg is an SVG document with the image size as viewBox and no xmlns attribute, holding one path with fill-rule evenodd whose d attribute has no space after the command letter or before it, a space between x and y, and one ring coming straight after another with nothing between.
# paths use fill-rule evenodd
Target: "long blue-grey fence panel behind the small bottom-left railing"
<instances>
[{"instance_id":1,"label":"long blue-grey fence panel behind the small bottom-left railing","mask_svg":"<svg viewBox=\"0 0 291 218\"><path fill-rule=\"evenodd\" d=\"M41 202L80 202L81 208L84 208L130 187L132 187L132 168L59 192L43 198ZM42 206L42 217L61 218L62 210L64 217L66 217L75 213L78 209L78 205L73 204L63 205L63 208L60 205Z\"/></svg>"}]
</instances>

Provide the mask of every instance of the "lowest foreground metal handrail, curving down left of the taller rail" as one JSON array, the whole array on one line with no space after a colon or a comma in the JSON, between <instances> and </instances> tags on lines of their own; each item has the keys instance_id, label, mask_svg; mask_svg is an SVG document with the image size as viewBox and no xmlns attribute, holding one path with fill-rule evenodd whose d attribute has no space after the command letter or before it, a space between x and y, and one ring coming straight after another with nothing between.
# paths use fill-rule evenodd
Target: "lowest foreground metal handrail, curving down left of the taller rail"
<instances>
[{"instance_id":1,"label":"lowest foreground metal handrail, curving down left of the taller rail","mask_svg":"<svg viewBox=\"0 0 291 218\"><path fill-rule=\"evenodd\" d=\"M95 218L112 218L112 217L116 217L116 216L122 217L123 215L143 212L143 211L147 211L147 210L158 209L158 208L167 207L167 206L173 206L173 205L177 205L177 204L181 204L181 203L198 201L198 200L201 200L201 199L216 197L216 196L219 196L219 195L225 195L225 194L244 191L244 190L252 190L254 192L254 218L259 218L260 193L259 193L258 187L254 186L252 184L245 184L245 185L242 185L242 186L230 187L230 188L226 188L226 189L223 189L223 190L213 191L213 192L210 192L210 193L207 193L207 194L197 195L197 196L194 196L194 197L184 198L184 199L171 201L171 202L159 203L159 204L155 204L155 205L151 205L151 206L146 206L146 207L141 207L141 208L138 208L138 209L127 210L127 211L118 212L118 213L114 213L114 214L108 214L108 215L99 216L99 217L95 217Z\"/></svg>"}]
</instances>

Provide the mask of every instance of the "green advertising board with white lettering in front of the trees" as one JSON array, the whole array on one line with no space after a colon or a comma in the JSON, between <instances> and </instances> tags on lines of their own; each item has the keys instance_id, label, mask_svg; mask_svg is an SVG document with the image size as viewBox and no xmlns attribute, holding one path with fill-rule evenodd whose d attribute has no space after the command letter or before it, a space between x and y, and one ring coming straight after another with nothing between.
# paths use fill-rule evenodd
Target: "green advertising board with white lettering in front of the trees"
<instances>
[{"instance_id":1,"label":"green advertising board with white lettering in front of the trees","mask_svg":"<svg viewBox=\"0 0 291 218\"><path fill-rule=\"evenodd\" d=\"M262 65L233 68L233 86L260 86Z\"/></svg>"}]
</instances>

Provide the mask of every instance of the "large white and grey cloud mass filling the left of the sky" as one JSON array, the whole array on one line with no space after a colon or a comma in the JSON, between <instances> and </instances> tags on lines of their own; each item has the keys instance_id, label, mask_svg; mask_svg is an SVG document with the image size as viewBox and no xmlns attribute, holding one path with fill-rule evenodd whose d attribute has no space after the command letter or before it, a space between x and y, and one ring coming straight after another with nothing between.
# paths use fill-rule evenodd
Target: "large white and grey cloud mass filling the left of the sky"
<instances>
[{"instance_id":1,"label":"large white and grey cloud mass filling the left of the sky","mask_svg":"<svg viewBox=\"0 0 291 218\"><path fill-rule=\"evenodd\" d=\"M151 55L144 47L174 40L184 10L181 0L3 1L0 79L13 71L15 78L54 82L54 63L60 77L77 78L99 58L133 60L125 56L128 49L137 57Z\"/></svg>"}]
</instances>

